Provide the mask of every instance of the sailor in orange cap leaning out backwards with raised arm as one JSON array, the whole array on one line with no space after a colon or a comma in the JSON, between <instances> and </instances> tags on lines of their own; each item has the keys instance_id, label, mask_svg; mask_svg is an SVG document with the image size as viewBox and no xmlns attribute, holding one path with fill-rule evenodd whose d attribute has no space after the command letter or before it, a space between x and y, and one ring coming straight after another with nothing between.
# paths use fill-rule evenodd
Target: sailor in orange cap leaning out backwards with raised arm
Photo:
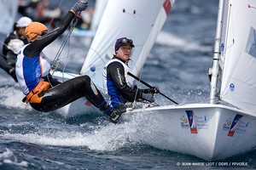
<instances>
[{"instance_id":1,"label":"sailor in orange cap leaning out backwards with raised arm","mask_svg":"<svg viewBox=\"0 0 256 170\"><path fill-rule=\"evenodd\" d=\"M49 75L49 59L42 52L67 29L75 14L87 6L88 3L84 0L75 3L60 25L49 33L47 27L39 22L32 22L26 26L26 37L30 43L21 48L18 54L16 75L20 90L26 95L23 101L37 111L54 111L76 99L86 97L115 123L125 110L113 110L88 76L57 82Z\"/></svg>"}]
</instances>

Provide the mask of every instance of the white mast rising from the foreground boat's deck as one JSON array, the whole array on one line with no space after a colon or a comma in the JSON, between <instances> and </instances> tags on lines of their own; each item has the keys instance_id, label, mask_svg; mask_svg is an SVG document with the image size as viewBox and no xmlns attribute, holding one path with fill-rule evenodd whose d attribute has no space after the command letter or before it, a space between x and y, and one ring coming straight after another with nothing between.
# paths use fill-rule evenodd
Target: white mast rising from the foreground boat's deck
<instances>
[{"instance_id":1,"label":"white mast rising from the foreground boat's deck","mask_svg":"<svg viewBox=\"0 0 256 170\"><path fill-rule=\"evenodd\" d=\"M216 104L215 94L217 92L217 81L218 81L218 60L220 56L220 43L221 43L221 33L223 26L223 14L224 14L224 0L219 0L218 2L218 20L216 28L216 37L214 44L213 53L213 64L212 64L212 79L211 79L211 92L210 92L210 104Z\"/></svg>"}]
</instances>

